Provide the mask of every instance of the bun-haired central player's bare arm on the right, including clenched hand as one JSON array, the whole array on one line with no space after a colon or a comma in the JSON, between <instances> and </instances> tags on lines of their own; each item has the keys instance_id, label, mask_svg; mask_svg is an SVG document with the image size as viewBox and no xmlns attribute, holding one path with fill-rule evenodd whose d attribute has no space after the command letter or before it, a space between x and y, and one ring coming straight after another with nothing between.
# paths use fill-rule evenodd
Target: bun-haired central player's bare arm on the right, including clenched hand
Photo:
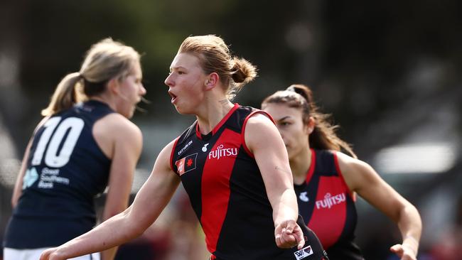
<instances>
[{"instance_id":1,"label":"bun-haired central player's bare arm on the right, including clenched hand","mask_svg":"<svg viewBox=\"0 0 462 260\"><path fill-rule=\"evenodd\" d=\"M289 157L276 126L266 116L257 114L247 121L245 143L255 156L269 202L273 208L274 236L281 248L303 247L299 216Z\"/></svg>"}]
</instances>

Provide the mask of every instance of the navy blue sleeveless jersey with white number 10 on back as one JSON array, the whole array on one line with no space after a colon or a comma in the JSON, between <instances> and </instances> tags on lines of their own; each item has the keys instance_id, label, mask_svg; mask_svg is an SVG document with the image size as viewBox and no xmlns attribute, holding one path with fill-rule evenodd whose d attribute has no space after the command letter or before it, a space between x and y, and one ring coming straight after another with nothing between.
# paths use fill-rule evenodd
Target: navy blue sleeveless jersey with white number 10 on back
<instances>
[{"instance_id":1,"label":"navy blue sleeveless jersey with white number 10 on back","mask_svg":"<svg viewBox=\"0 0 462 260\"><path fill-rule=\"evenodd\" d=\"M38 127L5 247L55 247L95 226L93 200L107 186L111 160L97 145L92 129L112 112L107 104L90 100Z\"/></svg>"}]
</instances>

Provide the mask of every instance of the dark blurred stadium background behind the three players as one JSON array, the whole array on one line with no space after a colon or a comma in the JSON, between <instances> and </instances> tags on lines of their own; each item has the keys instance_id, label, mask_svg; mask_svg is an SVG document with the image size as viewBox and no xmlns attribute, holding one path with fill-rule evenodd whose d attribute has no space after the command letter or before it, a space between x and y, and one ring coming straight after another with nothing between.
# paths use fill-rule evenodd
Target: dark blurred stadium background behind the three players
<instances>
[{"instance_id":1,"label":"dark blurred stadium background behind the three players","mask_svg":"<svg viewBox=\"0 0 462 260\"><path fill-rule=\"evenodd\" d=\"M259 67L236 102L259 107L291 83L310 85L340 136L417 205L419 259L439 259L448 243L461 247L462 236L451 240L448 231L462 232L461 1L6 0L0 31L0 241L40 109L92 43L111 36L144 53L150 103L133 119L144 134L135 194L161 147L194 120L170 104L163 80L171 60L186 36L213 33ZM388 247L400 241L397 227L362 200L358 209L366 259L395 259ZM205 259L199 229L180 188L117 259Z\"/></svg>"}]
</instances>

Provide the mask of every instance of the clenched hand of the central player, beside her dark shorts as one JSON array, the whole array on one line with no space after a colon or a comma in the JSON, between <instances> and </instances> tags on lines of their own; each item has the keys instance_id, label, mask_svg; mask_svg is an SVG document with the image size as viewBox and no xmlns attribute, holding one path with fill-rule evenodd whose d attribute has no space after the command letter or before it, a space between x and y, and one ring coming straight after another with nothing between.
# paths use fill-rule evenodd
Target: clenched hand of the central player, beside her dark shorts
<instances>
[{"instance_id":1,"label":"clenched hand of the central player, beside her dark shorts","mask_svg":"<svg viewBox=\"0 0 462 260\"><path fill-rule=\"evenodd\" d=\"M295 220L284 220L274 229L276 245L280 248L297 247L302 249L305 244L303 232Z\"/></svg>"}]
</instances>

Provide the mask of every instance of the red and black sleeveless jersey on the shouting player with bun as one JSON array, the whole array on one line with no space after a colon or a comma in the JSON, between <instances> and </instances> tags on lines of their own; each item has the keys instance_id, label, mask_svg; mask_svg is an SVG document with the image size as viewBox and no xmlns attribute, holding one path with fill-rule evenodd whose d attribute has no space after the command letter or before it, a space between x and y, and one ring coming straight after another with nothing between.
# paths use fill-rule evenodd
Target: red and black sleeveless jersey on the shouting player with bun
<instances>
[{"instance_id":1,"label":"red and black sleeveless jersey on the shouting player with bun","mask_svg":"<svg viewBox=\"0 0 462 260\"><path fill-rule=\"evenodd\" d=\"M257 162L245 146L247 119L264 113L235 104L208 135L197 121L176 140L171 168L181 177L205 233L211 259L297 259L274 241L272 206ZM301 257L298 259L311 259Z\"/></svg>"}]
</instances>

